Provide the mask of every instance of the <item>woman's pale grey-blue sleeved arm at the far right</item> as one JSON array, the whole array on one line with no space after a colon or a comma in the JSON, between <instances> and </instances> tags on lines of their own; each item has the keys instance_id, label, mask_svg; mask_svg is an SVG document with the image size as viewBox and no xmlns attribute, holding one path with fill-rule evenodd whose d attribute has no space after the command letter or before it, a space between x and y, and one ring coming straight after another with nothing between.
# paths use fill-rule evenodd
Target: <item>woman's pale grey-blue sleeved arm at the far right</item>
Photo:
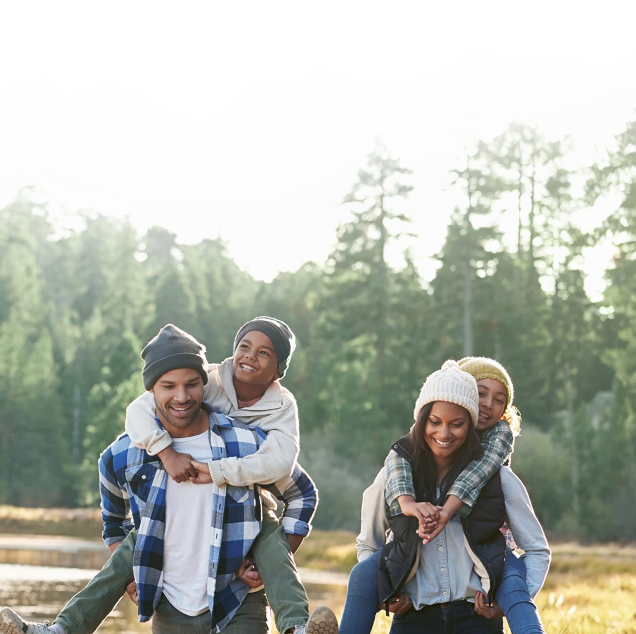
<instances>
[{"instance_id":1,"label":"woman's pale grey-blue sleeved arm at the far right","mask_svg":"<svg viewBox=\"0 0 636 634\"><path fill-rule=\"evenodd\" d=\"M524 551L525 579L530 596L534 597L550 568L550 546L525 486L509 467L501 469L501 487L506 499L508 526L516 545Z\"/></svg>"}]
</instances>

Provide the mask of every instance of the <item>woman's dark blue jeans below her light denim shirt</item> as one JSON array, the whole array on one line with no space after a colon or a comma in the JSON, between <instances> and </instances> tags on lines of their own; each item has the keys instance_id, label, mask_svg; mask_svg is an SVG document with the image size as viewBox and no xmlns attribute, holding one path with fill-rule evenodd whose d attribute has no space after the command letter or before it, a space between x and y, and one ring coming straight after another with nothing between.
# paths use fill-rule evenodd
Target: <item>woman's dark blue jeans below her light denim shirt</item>
<instances>
[{"instance_id":1,"label":"woman's dark blue jeans below her light denim shirt","mask_svg":"<svg viewBox=\"0 0 636 634\"><path fill-rule=\"evenodd\" d=\"M487 619L469 601L425 605L394 614L390 634L503 634L504 619Z\"/></svg>"}]
</instances>

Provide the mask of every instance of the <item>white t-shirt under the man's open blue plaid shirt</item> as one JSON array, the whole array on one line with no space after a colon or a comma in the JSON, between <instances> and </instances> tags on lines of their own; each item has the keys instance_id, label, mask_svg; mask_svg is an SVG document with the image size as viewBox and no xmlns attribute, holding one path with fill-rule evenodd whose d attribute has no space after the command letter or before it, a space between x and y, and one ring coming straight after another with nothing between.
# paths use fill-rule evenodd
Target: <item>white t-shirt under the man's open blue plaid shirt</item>
<instances>
[{"instance_id":1,"label":"white t-shirt under the man's open blue plaid shirt","mask_svg":"<svg viewBox=\"0 0 636 634\"><path fill-rule=\"evenodd\" d=\"M205 431L189 438L173 438L172 447L207 462L212 460L208 434ZM177 483L168 476L165 508L163 594L179 612L197 616L209 609L212 484Z\"/></svg>"}]
</instances>

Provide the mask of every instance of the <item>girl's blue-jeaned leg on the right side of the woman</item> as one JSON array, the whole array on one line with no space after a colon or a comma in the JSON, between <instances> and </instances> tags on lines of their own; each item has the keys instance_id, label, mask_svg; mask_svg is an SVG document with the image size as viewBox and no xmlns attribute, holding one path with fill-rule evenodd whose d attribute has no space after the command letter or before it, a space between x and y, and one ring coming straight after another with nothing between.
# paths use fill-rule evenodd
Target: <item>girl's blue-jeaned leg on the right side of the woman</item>
<instances>
[{"instance_id":1,"label":"girl's blue-jeaned leg on the right side of the woman","mask_svg":"<svg viewBox=\"0 0 636 634\"><path fill-rule=\"evenodd\" d=\"M504 610L513 634L546 634L525 582L525 563L510 550L495 600Z\"/></svg>"}]
</instances>

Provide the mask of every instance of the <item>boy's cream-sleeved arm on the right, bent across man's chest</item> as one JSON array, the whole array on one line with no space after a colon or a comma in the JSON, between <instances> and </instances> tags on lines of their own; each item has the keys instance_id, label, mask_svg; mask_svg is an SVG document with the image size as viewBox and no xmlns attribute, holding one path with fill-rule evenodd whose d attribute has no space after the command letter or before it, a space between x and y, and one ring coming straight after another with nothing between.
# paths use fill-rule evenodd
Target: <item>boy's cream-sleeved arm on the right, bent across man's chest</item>
<instances>
[{"instance_id":1,"label":"boy's cream-sleeved arm on the right, bent across man's chest","mask_svg":"<svg viewBox=\"0 0 636 634\"><path fill-rule=\"evenodd\" d=\"M230 414L231 416L231 414ZM289 477L296 465L298 450L298 407L286 392L280 411L258 421L266 438L256 453L242 458L221 458L211 463L211 476L217 486L249 486L254 483L275 484Z\"/></svg>"}]
</instances>

